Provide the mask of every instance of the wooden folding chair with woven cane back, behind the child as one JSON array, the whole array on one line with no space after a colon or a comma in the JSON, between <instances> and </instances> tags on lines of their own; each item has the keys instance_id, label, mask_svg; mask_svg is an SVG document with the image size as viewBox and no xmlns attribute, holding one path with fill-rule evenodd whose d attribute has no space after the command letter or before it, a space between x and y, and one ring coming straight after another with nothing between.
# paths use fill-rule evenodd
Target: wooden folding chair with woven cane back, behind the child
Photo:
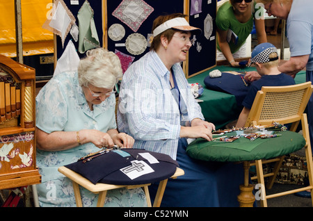
<instances>
[{"instance_id":1,"label":"wooden folding chair with woven cane back, behind the child","mask_svg":"<svg viewBox=\"0 0 313 221\"><path fill-rule=\"evenodd\" d=\"M301 122L303 137L305 138L305 156L307 161L307 174L310 180L310 186L305 188L298 188L296 190L289 190L284 193L277 193L274 195L266 195L264 188L264 177L271 177L268 180L266 188L271 188L275 177L280 170L284 156L280 158L258 160L250 165L255 165L257 169L257 177L251 177L251 179L257 179L258 183L261 183L261 200L262 206L267 206L266 199L273 197L280 197L282 195L288 195L291 193L297 193L303 190L312 190L312 149L310 145L310 134L307 124L307 115L303 113L307 102L312 95L313 85L311 82L300 83L296 85L280 86L280 87L262 87L262 90L257 92L255 100L252 104L252 108L248 115L248 120L245 126L257 126L257 125L268 125L273 122L280 124L291 124L290 131L296 131L299 122ZM273 147L275 148L275 147ZM274 165L273 172L263 174L262 164L276 162ZM311 195L312 197L312 195ZM313 205L313 197L312 197Z\"/></svg>"}]
</instances>

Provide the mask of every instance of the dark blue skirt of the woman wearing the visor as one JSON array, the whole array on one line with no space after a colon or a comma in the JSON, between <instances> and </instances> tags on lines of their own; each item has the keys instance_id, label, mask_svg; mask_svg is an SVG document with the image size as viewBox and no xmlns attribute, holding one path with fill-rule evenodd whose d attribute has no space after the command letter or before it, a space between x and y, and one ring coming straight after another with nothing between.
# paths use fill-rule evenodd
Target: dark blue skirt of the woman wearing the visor
<instances>
[{"instance_id":1,"label":"dark blue skirt of the woman wearing the visor","mask_svg":"<svg viewBox=\"0 0 313 221\"><path fill-rule=\"evenodd\" d=\"M239 206L237 196L243 183L243 165L195 160L186 154L187 145L186 139L180 139L177 149L177 162L185 174L168 179L161 206ZM149 187L152 202L158 185L152 183Z\"/></svg>"}]
</instances>

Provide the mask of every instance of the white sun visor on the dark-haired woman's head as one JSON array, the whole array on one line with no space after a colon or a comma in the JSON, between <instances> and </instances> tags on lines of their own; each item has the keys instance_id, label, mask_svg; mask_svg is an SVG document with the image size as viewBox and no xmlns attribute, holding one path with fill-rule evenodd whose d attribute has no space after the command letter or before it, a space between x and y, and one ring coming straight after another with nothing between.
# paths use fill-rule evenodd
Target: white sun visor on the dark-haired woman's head
<instances>
[{"instance_id":1,"label":"white sun visor on the dark-haired woman's head","mask_svg":"<svg viewBox=\"0 0 313 221\"><path fill-rule=\"evenodd\" d=\"M170 19L163 24L160 24L159 26L157 26L157 28L154 28L153 37L170 28L175 28L180 31L197 31L198 33L202 32L200 28L190 26L186 19L184 19L184 17L175 17L174 19Z\"/></svg>"}]
</instances>

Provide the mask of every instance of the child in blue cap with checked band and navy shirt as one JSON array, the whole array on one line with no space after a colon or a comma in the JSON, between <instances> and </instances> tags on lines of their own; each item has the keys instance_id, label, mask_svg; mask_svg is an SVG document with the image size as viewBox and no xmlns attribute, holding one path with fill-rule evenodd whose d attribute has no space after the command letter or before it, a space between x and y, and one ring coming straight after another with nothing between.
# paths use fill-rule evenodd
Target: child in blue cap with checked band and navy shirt
<instances>
[{"instance_id":1,"label":"child in blue cap with checked band and navy shirt","mask_svg":"<svg viewBox=\"0 0 313 221\"><path fill-rule=\"evenodd\" d=\"M252 63L255 64L257 72L261 75L261 79L253 81L250 84L248 94L242 102L243 110L239 115L236 127L243 127L246 124L257 91L261 90L262 86L285 86L295 84L294 78L278 70L278 51L271 43L262 43L253 49L249 66Z\"/></svg>"}]
</instances>

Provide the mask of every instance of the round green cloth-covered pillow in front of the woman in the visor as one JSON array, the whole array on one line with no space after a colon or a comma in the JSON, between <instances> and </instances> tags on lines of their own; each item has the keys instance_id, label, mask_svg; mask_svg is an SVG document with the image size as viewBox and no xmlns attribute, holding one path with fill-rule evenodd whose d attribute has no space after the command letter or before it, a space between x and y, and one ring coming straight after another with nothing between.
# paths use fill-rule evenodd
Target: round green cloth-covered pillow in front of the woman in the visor
<instances>
[{"instance_id":1,"label":"round green cloth-covered pillow in front of the woman in the visor","mask_svg":"<svg viewBox=\"0 0 313 221\"><path fill-rule=\"evenodd\" d=\"M226 133L225 135L228 135ZM300 133L291 131L279 132L276 138L239 138L233 142L208 142L198 138L188 145L188 156L202 161L239 162L283 156L302 149L305 139Z\"/></svg>"}]
</instances>

